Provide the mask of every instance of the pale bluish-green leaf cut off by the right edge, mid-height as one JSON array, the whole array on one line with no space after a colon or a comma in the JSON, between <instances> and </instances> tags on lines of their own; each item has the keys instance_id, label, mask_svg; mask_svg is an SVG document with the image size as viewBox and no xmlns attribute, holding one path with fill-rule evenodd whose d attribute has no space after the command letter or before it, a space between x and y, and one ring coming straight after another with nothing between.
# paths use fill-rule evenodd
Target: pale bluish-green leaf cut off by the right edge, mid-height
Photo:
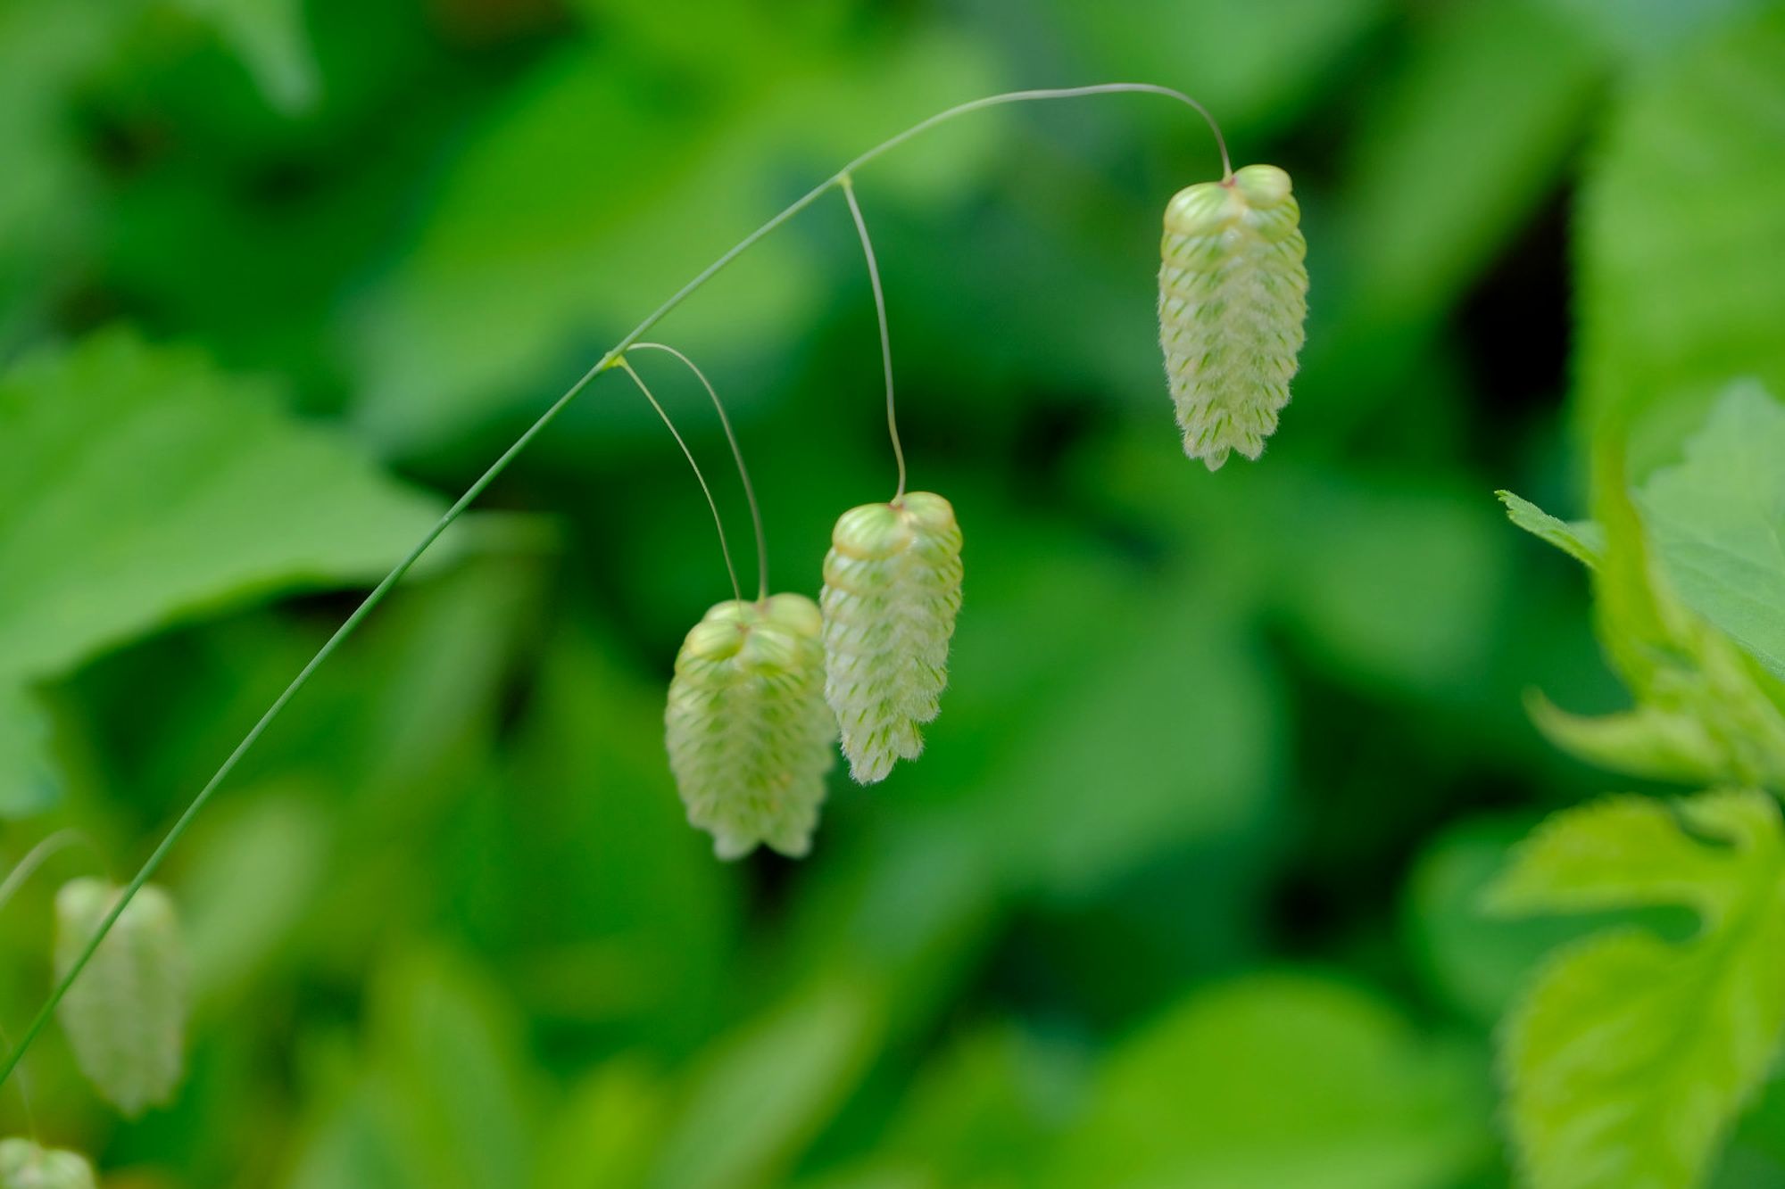
<instances>
[{"instance_id":1,"label":"pale bluish-green leaf cut off by the right edge, mid-height","mask_svg":"<svg viewBox=\"0 0 1785 1189\"><path fill-rule=\"evenodd\" d=\"M1785 405L1731 386L1639 505L1680 598L1785 678Z\"/></svg>"}]
</instances>

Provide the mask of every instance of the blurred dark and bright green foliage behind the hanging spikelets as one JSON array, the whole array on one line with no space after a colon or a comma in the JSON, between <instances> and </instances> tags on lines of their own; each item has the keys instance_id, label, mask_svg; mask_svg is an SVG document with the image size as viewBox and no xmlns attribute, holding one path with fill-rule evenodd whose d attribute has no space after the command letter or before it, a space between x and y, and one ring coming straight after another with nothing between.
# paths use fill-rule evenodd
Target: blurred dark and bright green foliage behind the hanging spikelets
<instances>
[{"instance_id":1,"label":"blurred dark and bright green foliage behind the hanging spikelets","mask_svg":"<svg viewBox=\"0 0 1785 1189\"><path fill-rule=\"evenodd\" d=\"M178 1100L118 1119L52 1030L45 1139L136 1189L1505 1184L1490 1030L1569 930L1473 896L1606 787L1524 691L1621 693L1492 491L1580 511L1576 184L1753 7L0 0L0 852L89 839L0 916L7 1028L57 880L134 871L446 502L855 152L1175 86L1294 175L1312 273L1282 430L1210 475L1153 318L1164 204L1219 171L1192 116L1000 109L866 168L912 482L966 532L923 761L839 771L801 862L712 859L660 712L730 587L602 377L171 855ZM892 487L841 198L655 334L816 594ZM710 409L639 368L748 571ZM1785 1184L1778 1110L1726 1185Z\"/></svg>"}]
</instances>

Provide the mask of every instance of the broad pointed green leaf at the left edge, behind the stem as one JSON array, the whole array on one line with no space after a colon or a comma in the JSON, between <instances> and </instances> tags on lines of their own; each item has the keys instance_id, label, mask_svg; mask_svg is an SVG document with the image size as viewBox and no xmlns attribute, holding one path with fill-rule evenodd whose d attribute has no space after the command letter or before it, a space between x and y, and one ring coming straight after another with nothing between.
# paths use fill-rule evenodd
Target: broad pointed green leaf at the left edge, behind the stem
<instances>
[{"instance_id":1,"label":"broad pointed green leaf at the left edge, behind the stem","mask_svg":"<svg viewBox=\"0 0 1785 1189\"><path fill-rule=\"evenodd\" d=\"M186 616L373 580L434 523L428 496L268 386L107 332L0 375L0 814L37 809L29 684Z\"/></svg>"}]
</instances>

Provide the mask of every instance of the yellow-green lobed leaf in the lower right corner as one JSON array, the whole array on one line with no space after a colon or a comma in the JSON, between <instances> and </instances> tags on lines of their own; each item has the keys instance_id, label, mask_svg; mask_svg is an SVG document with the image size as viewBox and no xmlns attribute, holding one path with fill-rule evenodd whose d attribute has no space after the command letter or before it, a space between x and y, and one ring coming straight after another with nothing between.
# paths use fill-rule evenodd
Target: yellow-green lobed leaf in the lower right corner
<instances>
[{"instance_id":1,"label":"yellow-green lobed leaf in the lower right corner","mask_svg":"<svg viewBox=\"0 0 1785 1189\"><path fill-rule=\"evenodd\" d=\"M1533 1189L1703 1184L1785 1030L1785 834L1758 791L1619 796L1546 821L1489 889L1503 914L1683 905L1555 953L1501 1034Z\"/></svg>"}]
</instances>

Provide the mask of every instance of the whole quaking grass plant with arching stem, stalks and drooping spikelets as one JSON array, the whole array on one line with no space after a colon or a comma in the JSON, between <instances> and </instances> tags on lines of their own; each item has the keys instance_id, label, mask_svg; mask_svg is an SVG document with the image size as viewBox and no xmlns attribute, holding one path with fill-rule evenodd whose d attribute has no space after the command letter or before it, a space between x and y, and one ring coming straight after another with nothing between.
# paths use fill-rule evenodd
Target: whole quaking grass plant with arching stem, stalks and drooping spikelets
<instances>
[{"instance_id":1,"label":"whole quaking grass plant with arching stem, stalks and drooping spikelets","mask_svg":"<svg viewBox=\"0 0 1785 1189\"><path fill-rule=\"evenodd\" d=\"M810 848L839 737L850 773L862 784L885 778L900 759L916 759L923 750L919 728L935 718L946 684L948 646L962 600L962 530L944 496L907 489L885 293L855 179L905 141L975 111L1123 93L1183 104L1207 121L1221 152L1219 180L1183 189L1166 209L1160 345L1185 453L1210 470L1232 450L1257 459L1289 400L1307 309L1305 245L1289 175L1274 166L1235 171L1221 130L1201 104L1144 82L1010 91L937 112L857 155L791 202L627 332L446 509L323 643L129 884L77 880L62 889L59 978L0 1064L0 1080L18 1069L48 1019L61 1012L84 1073L121 1110L134 1114L171 1094L180 1075L184 957L171 900L150 886L161 862L316 669L489 484L607 371L630 377L687 455L712 509L732 586L732 598L714 603L687 634L669 684L666 744L689 821L712 834L721 859L748 855L762 844L798 857ZM873 291L898 482L887 502L862 503L837 520L823 564L823 593L814 602L798 593L769 593L762 514L725 405L687 355L646 336L757 241L832 191L841 191L848 205ZM635 353L652 352L680 361L698 378L725 427L753 521L755 598L744 598L705 475L634 368ZM30 866L36 859L27 859L14 877L23 878ZM0 891L0 902L16 878ZM23 1139L0 1143L0 1189L27 1184L89 1185L93 1175L75 1153Z\"/></svg>"}]
</instances>

